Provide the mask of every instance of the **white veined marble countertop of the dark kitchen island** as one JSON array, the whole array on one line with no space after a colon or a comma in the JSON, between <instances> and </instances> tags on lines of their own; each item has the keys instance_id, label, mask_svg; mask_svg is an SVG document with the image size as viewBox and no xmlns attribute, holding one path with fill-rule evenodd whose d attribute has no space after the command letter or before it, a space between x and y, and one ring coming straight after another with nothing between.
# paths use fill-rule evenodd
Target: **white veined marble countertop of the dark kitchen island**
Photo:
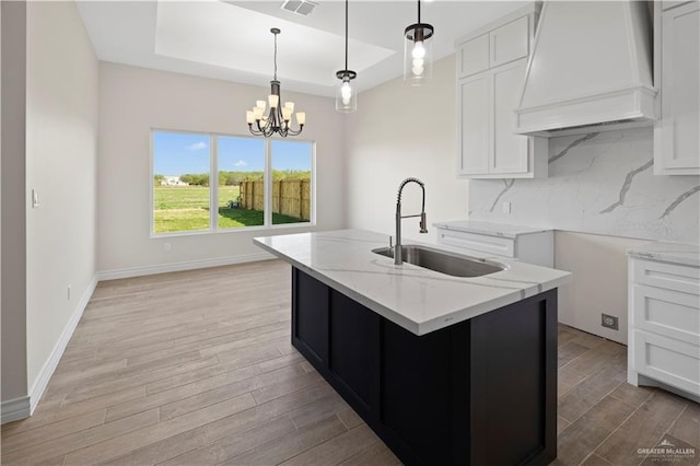
<instances>
[{"instance_id":1,"label":"white veined marble countertop of the dark kitchen island","mask_svg":"<svg viewBox=\"0 0 700 466\"><path fill-rule=\"evenodd\" d=\"M499 259L505 270L476 278L411 264L395 266L392 258L372 253L388 245L388 235L363 230L256 237L254 243L416 335L551 290L571 278L565 271L509 259ZM464 255L444 245L427 246Z\"/></svg>"}]
</instances>

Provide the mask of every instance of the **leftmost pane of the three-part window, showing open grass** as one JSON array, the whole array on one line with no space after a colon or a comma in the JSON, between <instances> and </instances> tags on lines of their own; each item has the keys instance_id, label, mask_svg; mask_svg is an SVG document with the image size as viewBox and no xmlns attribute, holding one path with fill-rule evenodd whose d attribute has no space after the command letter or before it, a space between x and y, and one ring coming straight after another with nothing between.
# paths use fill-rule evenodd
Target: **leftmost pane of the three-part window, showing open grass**
<instances>
[{"instance_id":1,"label":"leftmost pane of the three-part window, showing open grass","mask_svg":"<svg viewBox=\"0 0 700 466\"><path fill-rule=\"evenodd\" d=\"M153 132L153 231L209 229L207 135Z\"/></svg>"}]
</instances>

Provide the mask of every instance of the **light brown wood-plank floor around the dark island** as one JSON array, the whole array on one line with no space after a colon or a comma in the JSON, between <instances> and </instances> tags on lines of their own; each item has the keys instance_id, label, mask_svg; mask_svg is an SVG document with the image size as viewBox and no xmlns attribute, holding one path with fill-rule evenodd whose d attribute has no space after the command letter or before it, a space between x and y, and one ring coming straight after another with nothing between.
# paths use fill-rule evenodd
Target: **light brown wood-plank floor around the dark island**
<instances>
[{"instance_id":1,"label":"light brown wood-plank floor around the dark island","mask_svg":"<svg viewBox=\"0 0 700 466\"><path fill-rule=\"evenodd\" d=\"M398 464L289 333L280 261L100 283L34 416L2 427L1 462ZM561 326L559 368L555 464L700 463L700 405L628 385L626 347ZM664 439L696 453L639 453Z\"/></svg>"}]
</instances>

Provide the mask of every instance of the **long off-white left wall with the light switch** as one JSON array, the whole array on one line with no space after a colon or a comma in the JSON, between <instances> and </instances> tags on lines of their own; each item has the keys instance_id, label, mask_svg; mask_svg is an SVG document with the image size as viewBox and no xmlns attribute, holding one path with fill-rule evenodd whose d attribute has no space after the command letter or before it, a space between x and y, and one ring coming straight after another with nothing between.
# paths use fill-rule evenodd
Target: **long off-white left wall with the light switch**
<instances>
[{"instance_id":1,"label":"long off-white left wall with the light switch","mask_svg":"<svg viewBox=\"0 0 700 466\"><path fill-rule=\"evenodd\" d=\"M74 2L27 2L26 32L26 199L34 188L40 201L26 202L35 405L95 284L98 65Z\"/></svg>"}]
</instances>

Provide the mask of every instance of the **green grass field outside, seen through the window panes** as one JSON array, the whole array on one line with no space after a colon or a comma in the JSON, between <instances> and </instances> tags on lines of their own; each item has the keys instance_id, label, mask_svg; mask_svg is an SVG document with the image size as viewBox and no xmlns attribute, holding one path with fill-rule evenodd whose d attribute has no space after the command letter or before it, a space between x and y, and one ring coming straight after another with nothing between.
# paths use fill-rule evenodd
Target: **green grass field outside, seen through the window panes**
<instances>
[{"instance_id":1,"label":"green grass field outside, seen through the window panes","mask_svg":"<svg viewBox=\"0 0 700 466\"><path fill-rule=\"evenodd\" d=\"M219 186L218 225L220 229L264 224L261 210L230 209L229 201L238 198L238 186ZM158 186L153 191L155 233L209 229L209 188L200 186ZM294 217L272 212L272 223L299 223Z\"/></svg>"}]
</instances>

